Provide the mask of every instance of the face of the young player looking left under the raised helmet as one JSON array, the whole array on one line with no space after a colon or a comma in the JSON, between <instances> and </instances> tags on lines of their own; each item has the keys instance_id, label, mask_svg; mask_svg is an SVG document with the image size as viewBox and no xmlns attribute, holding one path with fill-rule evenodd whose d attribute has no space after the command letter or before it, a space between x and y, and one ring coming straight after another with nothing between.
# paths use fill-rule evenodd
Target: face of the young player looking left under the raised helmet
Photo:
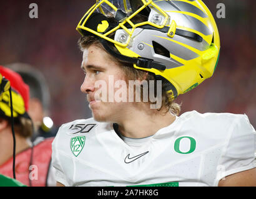
<instances>
[{"instance_id":1,"label":"face of the young player looking left under the raised helmet","mask_svg":"<svg viewBox=\"0 0 256 199\"><path fill-rule=\"evenodd\" d=\"M86 73L81 91L87 94L94 119L116 122L127 105L126 102L116 102L114 98L116 90L120 90L114 88L115 83L125 80L123 70L96 45L84 50L81 67Z\"/></svg>"}]
</instances>

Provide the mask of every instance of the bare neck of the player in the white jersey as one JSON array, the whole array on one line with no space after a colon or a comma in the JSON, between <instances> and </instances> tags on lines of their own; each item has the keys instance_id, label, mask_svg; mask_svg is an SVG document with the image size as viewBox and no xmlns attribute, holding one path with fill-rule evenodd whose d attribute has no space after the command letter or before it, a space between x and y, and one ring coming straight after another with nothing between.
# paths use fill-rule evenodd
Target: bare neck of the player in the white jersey
<instances>
[{"instance_id":1,"label":"bare neck of the player in the white jersey","mask_svg":"<svg viewBox=\"0 0 256 199\"><path fill-rule=\"evenodd\" d=\"M143 106L143 105L142 105ZM119 131L125 137L142 138L155 134L163 127L169 126L175 121L175 116L169 111L148 108L132 108L129 113L122 114L117 121Z\"/></svg>"}]
</instances>

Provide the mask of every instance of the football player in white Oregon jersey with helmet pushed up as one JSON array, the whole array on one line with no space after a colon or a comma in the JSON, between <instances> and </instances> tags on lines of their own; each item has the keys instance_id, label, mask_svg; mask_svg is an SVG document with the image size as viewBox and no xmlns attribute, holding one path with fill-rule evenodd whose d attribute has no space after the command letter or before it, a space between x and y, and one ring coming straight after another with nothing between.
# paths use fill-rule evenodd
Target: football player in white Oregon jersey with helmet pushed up
<instances>
[{"instance_id":1,"label":"football player in white Oregon jersey with helmet pushed up","mask_svg":"<svg viewBox=\"0 0 256 199\"><path fill-rule=\"evenodd\" d=\"M174 102L219 60L217 25L202 1L96 0L77 30L93 118L60 127L57 185L256 185L247 116L179 116Z\"/></svg>"}]
</instances>

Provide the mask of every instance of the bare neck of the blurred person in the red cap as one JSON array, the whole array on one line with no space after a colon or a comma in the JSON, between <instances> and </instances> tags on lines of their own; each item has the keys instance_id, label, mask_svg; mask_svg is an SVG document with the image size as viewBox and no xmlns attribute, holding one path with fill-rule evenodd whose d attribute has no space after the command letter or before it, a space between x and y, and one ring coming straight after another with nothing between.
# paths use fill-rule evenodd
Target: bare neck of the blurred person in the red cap
<instances>
[{"instance_id":1,"label":"bare neck of the blurred person in the red cap","mask_svg":"<svg viewBox=\"0 0 256 199\"><path fill-rule=\"evenodd\" d=\"M15 134L16 139L16 152L19 154L23 150L31 147L31 143L26 138ZM1 133L0 137L0 165L4 164L7 160L11 159L13 155L13 139L11 132Z\"/></svg>"}]
</instances>

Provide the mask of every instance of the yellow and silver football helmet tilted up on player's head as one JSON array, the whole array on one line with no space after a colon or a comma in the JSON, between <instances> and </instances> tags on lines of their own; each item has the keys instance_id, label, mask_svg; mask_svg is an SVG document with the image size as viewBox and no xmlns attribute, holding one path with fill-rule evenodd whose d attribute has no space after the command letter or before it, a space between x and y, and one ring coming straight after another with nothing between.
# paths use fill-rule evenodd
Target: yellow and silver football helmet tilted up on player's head
<instances>
[{"instance_id":1,"label":"yellow and silver football helmet tilted up on player's head","mask_svg":"<svg viewBox=\"0 0 256 199\"><path fill-rule=\"evenodd\" d=\"M132 22L136 15L147 20ZM77 30L97 35L109 53L154 73L171 98L210 78L219 60L219 31L201 0L96 0Z\"/></svg>"}]
</instances>

